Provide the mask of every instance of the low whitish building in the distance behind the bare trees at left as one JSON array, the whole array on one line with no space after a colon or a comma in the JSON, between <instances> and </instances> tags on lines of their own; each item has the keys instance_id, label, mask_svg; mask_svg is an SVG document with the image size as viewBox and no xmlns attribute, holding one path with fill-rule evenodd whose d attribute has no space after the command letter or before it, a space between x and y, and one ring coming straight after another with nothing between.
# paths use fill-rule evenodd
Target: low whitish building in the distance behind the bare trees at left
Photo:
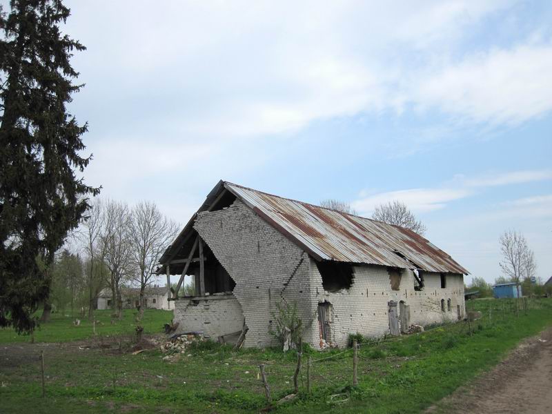
<instances>
[{"instance_id":1,"label":"low whitish building in the distance behind the bare trees at left","mask_svg":"<svg viewBox=\"0 0 552 414\"><path fill-rule=\"evenodd\" d=\"M174 309L175 305L173 302L168 300L168 290L166 286L150 286L146 288L144 292L144 299L146 302L146 308L148 309ZM112 304L111 289L101 290L97 308L98 309L109 309ZM139 305L140 299L140 288L121 288L121 296L123 299L123 308L137 308Z\"/></svg>"}]
</instances>

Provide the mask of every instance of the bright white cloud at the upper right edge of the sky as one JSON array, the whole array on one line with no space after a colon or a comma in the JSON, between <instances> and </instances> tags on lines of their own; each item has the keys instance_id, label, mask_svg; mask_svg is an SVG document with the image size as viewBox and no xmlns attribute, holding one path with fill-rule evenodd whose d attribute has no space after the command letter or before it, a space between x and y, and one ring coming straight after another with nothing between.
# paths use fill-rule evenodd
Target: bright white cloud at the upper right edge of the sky
<instances>
[{"instance_id":1,"label":"bright white cloud at the upper right edge of the sky","mask_svg":"<svg viewBox=\"0 0 552 414\"><path fill-rule=\"evenodd\" d=\"M552 44L469 56L415 86L413 99L462 119L519 124L552 109Z\"/></svg>"}]
</instances>

